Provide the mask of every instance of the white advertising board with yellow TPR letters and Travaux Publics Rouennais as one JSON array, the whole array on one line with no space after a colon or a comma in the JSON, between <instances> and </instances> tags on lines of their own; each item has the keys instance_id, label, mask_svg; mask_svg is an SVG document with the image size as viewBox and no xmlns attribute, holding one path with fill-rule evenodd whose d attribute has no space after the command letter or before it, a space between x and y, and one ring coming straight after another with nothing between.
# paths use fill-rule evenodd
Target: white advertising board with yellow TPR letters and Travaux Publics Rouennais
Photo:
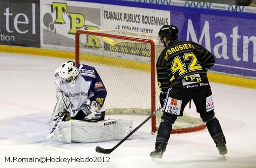
<instances>
[{"instance_id":1,"label":"white advertising board with yellow TPR letters and Travaux Publics Rouennais","mask_svg":"<svg viewBox=\"0 0 256 168\"><path fill-rule=\"evenodd\" d=\"M74 51L78 29L129 29L157 33L170 12L108 4L41 0L41 47Z\"/></svg>"}]
</instances>

